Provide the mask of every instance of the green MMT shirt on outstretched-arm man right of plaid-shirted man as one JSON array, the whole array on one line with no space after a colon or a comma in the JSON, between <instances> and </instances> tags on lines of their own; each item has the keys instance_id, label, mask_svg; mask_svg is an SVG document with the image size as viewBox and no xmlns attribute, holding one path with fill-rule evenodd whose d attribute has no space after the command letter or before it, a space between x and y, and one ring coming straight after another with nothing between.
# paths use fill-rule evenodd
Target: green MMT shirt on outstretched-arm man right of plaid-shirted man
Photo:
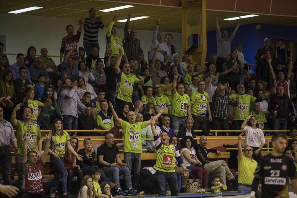
<instances>
[{"instance_id":1,"label":"green MMT shirt on outstretched-arm man right of plaid-shirted man","mask_svg":"<svg viewBox=\"0 0 297 198\"><path fill-rule=\"evenodd\" d=\"M232 94L229 96L233 101L236 101L236 97L239 97L239 102L236 107L233 108L233 119L244 120L249 116L249 106L251 102L255 102L257 99L249 94Z\"/></svg>"}]
</instances>

